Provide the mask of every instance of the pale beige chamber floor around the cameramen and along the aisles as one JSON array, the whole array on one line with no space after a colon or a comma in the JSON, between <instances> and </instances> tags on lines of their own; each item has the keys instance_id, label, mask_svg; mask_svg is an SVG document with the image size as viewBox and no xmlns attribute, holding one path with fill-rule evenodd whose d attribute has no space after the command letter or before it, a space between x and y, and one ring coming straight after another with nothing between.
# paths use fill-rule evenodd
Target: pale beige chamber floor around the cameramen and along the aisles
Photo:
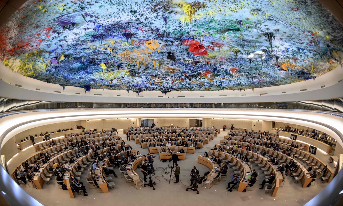
<instances>
[{"instance_id":1,"label":"pale beige chamber floor around the cameramen and along the aisles","mask_svg":"<svg viewBox=\"0 0 343 206\"><path fill-rule=\"evenodd\" d=\"M122 134L122 130L118 130L120 136L126 139L126 135ZM260 190L259 186L256 185L253 191L238 192L235 189L233 192L227 192L227 183L230 181L233 169L228 170L228 178L226 181L221 181L217 185L213 185L210 189L206 186L199 185L199 194L191 190L186 191L186 187L190 184L190 170L193 166L199 169L201 176L209 169L198 163L198 155L202 155L204 151L208 151L214 144L219 144L219 141L224 138L226 131L222 131L214 140L210 140L210 144L205 145L202 149L196 150L194 154L187 153L186 160L179 161L181 167L180 180L182 184L174 184L173 178L169 184L170 174L165 174L162 170L168 166L168 162L159 161L158 154L154 159L154 168L156 170L155 176L153 176L153 181L156 182L156 190L152 190L151 187L139 187L136 190L135 187L129 186L124 178L113 178L113 182L116 184L113 190L109 190L109 193L97 193L99 190L90 189L87 187L88 196L75 194L75 198L70 198L68 191L59 189L55 179L50 181L50 185L45 184L43 190L36 190L28 185L21 185L21 187L31 196L36 198L40 203L46 206L62 206L62 205L74 205L74 206L88 206L88 205L108 205L108 204L130 204L130 205L146 205L151 206L164 206L164 205L205 205L205 204L216 204L216 205L254 205L254 206L268 206L275 205L303 205L316 194L318 194L328 183L321 183L317 181L315 185L310 187L302 188L301 183L294 183L291 176L286 177L286 181L283 187L280 187L276 197L272 197L271 193L265 194L264 190ZM127 141L126 141L127 142ZM133 141L128 142L134 149L140 151L141 154L146 154L148 149L141 149L140 145L136 145ZM9 165L12 171L21 161L26 159L27 156L33 155L34 150L28 148L25 151L20 151L17 156L15 156ZM322 161L327 163L331 169L335 167L334 163L329 163L329 155L326 153L317 152L316 157L320 158ZM253 164L253 168L260 173L260 178L258 179L258 184L263 180L261 174L262 170ZM142 174L140 169L137 169L138 174ZM118 168L114 169L117 175L120 176L120 171ZM170 172L170 168L167 168ZM85 183L85 174L83 172L81 175L81 182ZM167 179L165 180L164 177Z\"/></svg>"}]
</instances>

